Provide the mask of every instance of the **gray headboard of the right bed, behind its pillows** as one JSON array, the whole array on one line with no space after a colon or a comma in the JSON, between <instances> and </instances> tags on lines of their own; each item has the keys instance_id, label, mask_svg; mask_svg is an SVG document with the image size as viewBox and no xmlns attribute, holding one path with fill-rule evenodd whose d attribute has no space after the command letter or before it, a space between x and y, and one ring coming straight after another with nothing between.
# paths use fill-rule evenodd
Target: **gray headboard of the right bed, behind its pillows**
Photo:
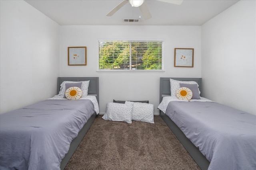
<instances>
[{"instance_id":1,"label":"gray headboard of the right bed, behind its pillows","mask_svg":"<svg viewBox=\"0 0 256 170\"><path fill-rule=\"evenodd\" d=\"M195 81L199 85L200 96L203 95L202 93L202 78L172 78L174 80L179 81ZM160 103L162 102L163 96L170 96L170 77L160 77ZM202 96L203 97L203 96Z\"/></svg>"}]
</instances>

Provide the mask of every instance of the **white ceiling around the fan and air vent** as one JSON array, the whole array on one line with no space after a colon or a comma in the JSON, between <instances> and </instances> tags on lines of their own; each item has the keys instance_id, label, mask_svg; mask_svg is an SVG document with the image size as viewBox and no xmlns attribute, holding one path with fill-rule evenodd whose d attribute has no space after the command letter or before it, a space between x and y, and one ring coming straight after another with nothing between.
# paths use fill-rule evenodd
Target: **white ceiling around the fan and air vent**
<instances>
[{"instance_id":1,"label":"white ceiling around the fan and air vent","mask_svg":"<svg viewBox=\"0 0 256 170\"><path fill-rule=\"evenodd\" d=\"M152 15L148 20L130 3L106 16L122 0L25 1L60 25L202 25L239 0L184 0L181 5L145 0ZM123 21L138 18L138 23Z\"/></svg>"}]
</instances>

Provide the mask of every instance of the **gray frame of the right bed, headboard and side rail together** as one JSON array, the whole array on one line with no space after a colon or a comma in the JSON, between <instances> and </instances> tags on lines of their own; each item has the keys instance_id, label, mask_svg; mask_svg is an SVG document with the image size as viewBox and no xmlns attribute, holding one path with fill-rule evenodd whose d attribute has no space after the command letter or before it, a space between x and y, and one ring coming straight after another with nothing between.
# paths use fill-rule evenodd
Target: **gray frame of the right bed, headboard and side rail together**
<instances>
[{"instance_id":1,"label":"gray frame of the right bed, headboard and side rail together","mask_svg":"<svg viewBox=\"0 0 256 170\"><path fill-rule=\"evenodd\" d=\"M202 93L202 78L172 78L174 80L180 81L195 81L199 85L200 96ZM160 78L160 102L164 96L170 96L170 78L161 77ZM203 97L203 96L202 96ZM160 117L165 121L174 135L179 139L180 143L184 146L184 148L188 151L188 153L192 156L195 162L202 170L207 170L210 162L206 159L206 157L200 152L200 150L184 135L184 133L180 130L180 128L168 117L165 113L160 111Z\"/></svg>"}]
</instances>

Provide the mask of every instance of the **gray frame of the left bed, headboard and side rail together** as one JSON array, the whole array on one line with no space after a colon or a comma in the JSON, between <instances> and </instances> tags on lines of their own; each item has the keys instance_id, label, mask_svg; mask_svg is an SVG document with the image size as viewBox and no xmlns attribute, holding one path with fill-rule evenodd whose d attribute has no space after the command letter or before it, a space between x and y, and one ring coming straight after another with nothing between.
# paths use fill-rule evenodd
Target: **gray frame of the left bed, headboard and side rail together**
<instances>
[{"instance_id":1,"label":"gray frame of the left bed, headboard and side rail together","mask_svg":"<svg viewBox=\"0 0 256 170\"><path fill-rule=\"evenodd\" d=\"M74 82L79 82L79 81L87 81L90 80L89 83L89 88L88 88L88 95L96 96L97 101L99 103L99 78L98 77L58 77L58 83L57 83L57 94L60 91L60 84L63 81L74 81ZM73 141L70 143L70 148L64 158L62 159L60 163L60 169L64 170L66 165L68 164L68 161L76 151L76 148L84 138L84 135L92 125L94 119L96 118L97 114L94 113L90 119L84 124L84 127L81 129L81 131L78 133L78 136L73 139Z\"/></svg>"}]
</instances>

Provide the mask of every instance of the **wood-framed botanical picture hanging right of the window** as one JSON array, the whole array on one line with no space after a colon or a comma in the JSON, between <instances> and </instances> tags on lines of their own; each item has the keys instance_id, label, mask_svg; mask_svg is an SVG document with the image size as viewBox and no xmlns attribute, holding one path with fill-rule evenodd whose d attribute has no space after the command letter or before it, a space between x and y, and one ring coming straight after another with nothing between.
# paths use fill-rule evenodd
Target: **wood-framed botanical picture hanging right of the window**
<instances>
[{"instance_id":1,"label":"wood-framed botanical picture hanging right of the window","mask_svg":"<svg viewBox=\"0 0 256 170\"><path fill-rule=\"evenodd\" d=\"M175 48L175 67L194 67L194 49Z\"/></svg>"}]
</instances>

